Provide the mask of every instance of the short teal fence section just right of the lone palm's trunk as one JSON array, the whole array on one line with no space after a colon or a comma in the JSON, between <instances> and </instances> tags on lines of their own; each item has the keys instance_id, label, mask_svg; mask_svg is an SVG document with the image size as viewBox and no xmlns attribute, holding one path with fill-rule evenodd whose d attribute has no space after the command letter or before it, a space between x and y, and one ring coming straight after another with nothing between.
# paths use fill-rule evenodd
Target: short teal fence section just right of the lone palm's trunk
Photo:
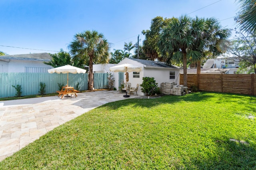
<instances>
[{"instance_id":1,"label":"short teal fence section just right of the lone palm's trunk","mask_svg":"<svg viewBox=\"0 0 256 170\"><path fill-rule=\"evenodd\" d=\"M94 89L108 88L108 73L94 73Z\"/></svg>"}]
</instances>

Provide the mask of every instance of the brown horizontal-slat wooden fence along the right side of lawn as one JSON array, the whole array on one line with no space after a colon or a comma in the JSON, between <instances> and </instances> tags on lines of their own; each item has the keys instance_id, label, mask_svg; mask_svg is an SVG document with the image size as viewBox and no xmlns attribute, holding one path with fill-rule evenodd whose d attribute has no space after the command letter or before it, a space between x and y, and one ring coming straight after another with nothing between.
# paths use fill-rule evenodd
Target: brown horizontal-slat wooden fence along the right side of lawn
<instances>
[{"instance_id":1,"label":"brown horizontal-slat wooden fence along the right side of lawn","mask_svg":"<svg viewBox=\"0 0 256 170\"><path fill-rule=\"evenodd\" d=\"M188 88L198 86L199 90L256 96L256 74L187 74ZM180 74L180 84L184 76Z\"/></svg>"}]
</instances>

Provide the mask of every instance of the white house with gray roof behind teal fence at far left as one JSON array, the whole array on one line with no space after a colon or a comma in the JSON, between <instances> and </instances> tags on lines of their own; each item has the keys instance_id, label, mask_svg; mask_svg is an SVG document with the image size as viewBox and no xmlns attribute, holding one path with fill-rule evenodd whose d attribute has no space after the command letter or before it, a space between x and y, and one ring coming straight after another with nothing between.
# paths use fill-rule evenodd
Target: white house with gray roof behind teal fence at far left
<instances>
[{"instance_id":1,"label":"white house with gray roof behind teal fence at far left","mask_svg":"<svg viewBox=\"0 0 256 170\"><path fill-rule=\"evenodd\" d=\"M53 67L43 62L49 62L51 59L48 53L2 55L0 72L47 72Z\"/></svg>"}]
</instances>

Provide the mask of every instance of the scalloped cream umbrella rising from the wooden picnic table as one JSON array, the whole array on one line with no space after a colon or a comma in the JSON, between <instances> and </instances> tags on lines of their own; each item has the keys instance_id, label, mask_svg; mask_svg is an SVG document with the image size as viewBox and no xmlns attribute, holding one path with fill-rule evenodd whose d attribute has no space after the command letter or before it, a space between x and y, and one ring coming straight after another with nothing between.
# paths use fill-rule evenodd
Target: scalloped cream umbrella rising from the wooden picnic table
<instances>
[{"instance_id":1,"label":"scalloped cream umbrella rising from the wooden picnic table","mask_svg":"<svg viewBox=\"0 0 256 170\"><path fill-rule=\"evenodd\" d=\"M82 69L82 68L78 68L75 66L70 66L70 65L65 65L65 66L60 66L60 67L56 67L56 68L52 68L47 70L48 73L63 73L63 74L68 74L68 73L72 73L72 74L76 74L76 73L86 73L86 70ZM67 86L68 86L68 77L67 77Z\"/></svg>"}]
</instances>

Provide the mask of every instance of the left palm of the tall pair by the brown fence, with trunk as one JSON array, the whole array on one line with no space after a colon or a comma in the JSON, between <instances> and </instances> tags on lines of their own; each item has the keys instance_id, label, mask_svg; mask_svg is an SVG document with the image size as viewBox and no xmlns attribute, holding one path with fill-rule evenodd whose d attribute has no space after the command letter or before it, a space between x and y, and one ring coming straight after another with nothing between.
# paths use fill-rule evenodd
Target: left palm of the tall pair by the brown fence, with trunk
<instances>
[{"instance_id":1,"label":"left palm of the tall pair by the brown fence, with trunk","mask_svg":"<svg viewBox=\"0 0 256 170\"><path fill-rule=\"evenodd\" d=\"M200 55L197 51L190 51L194 43L191 29L192 18L184 15L180 18L171 18L159 41L159 48L163 56L183 63L184 86L187 86L187 53L196 58Z\"/></svg>"}]
</instances>

